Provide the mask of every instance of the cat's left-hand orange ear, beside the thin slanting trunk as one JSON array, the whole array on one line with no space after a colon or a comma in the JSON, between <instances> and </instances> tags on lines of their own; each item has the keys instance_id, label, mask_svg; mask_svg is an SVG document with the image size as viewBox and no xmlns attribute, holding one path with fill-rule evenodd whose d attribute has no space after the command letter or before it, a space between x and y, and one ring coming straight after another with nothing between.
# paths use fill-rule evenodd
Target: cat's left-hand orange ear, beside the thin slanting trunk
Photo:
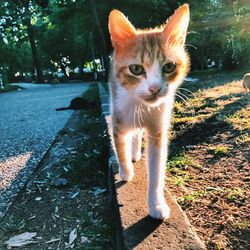
<instances>
[{"instance_id":1,"label":"cat's left-hand orange ear, beside the thin slanting trunk","mask_svg":"<svg viewBox=\"0 0 250 250\"><path fill-rule=\"evenodd\" d=\"M109 33L114 47L136 35L134 26L118 10L112 10L109 15Z\"/></svg>"}]
</instances>

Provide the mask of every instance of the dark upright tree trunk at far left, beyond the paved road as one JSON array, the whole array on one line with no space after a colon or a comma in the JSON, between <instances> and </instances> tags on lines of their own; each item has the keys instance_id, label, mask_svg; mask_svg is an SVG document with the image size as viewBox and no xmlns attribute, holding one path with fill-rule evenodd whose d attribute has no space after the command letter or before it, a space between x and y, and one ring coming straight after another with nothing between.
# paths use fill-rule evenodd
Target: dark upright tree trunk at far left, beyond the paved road
<instances>
[{"instance_id":1,"label":"dark upright tree trunk at far left, beyond the paved road","mask_svg":"<svg viewBox=\"0 0 250 250\"><path fill-rule=\"evenodd\" d=\"M31 46L31 52L32 52L32 59L33 59L33 64L35 68L35 75L36 75L36 82L43 82L43 74L42 74L42 69L41 69L41 64L38 59L38 53L37 53L37 47L36 47L36 42L35 42L35 33L34 29L31 25L31 20L27 21L27 31L28 31L28 37L29 37L29 42Z\"/></svg>"}]
</instances>

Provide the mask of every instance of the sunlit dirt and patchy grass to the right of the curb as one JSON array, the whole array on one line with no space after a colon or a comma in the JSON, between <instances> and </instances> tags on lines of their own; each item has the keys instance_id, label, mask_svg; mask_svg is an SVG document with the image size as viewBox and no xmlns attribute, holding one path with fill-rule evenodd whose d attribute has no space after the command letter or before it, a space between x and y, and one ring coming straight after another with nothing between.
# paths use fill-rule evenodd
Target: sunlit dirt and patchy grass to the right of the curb
<instances>
[{"instance_id":1,"label":"sunlit dirt and patchy grass to the right of the curb","mask_svg":"<svg viewBox=\"0 0 250 250\"><path fill-rule=\"evenodd\" d=\"M199 75L176 102L167 187L208 249L250 249L250 94L241 76Z\"/></svg>"}]
</instances>

